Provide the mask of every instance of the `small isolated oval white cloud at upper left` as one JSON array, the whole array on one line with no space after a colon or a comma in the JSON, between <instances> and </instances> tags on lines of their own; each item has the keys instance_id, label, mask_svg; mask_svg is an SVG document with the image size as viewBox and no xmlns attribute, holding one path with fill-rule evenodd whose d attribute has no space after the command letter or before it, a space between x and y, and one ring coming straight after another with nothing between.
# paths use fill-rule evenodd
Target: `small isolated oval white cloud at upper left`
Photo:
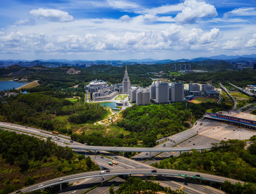
<instances>
[{"instance_id":1,"label":"small isolated oval white cloud at upper left","mask_svg":"<svg viewBox=\"0 0 256 194\"><path fill-rule=\"evenodd\" d=\"M33 9L29 14L52 22L70 22L73 20L73 16L69 15L68 12L56 9Z\"/></svg>"}]
</instances>

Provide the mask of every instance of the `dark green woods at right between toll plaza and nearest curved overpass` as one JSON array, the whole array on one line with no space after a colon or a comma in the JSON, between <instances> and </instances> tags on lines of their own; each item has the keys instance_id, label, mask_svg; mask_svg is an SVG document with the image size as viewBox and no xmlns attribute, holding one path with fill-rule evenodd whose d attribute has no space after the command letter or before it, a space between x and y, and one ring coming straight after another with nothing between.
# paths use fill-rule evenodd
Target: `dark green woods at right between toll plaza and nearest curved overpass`
<instances>
[{"instance_id":1,"label":"dark green woods at right between toll plaza and nearest curved overpass","mask_svg":"<svg viewBox=\"0 0 256 194\"><path fill-rule=\"evenodd\" d=\"M245 150L245 142L239 140L221 141L213 144L210 151L204 153L193 150L178 157L167 158L160 163L152 164L157 168L179 169L204 172L238 179L253 186L256 191L256 143ZM233 192L232 192L233 193Z\"/></svg>"}]
</instances>

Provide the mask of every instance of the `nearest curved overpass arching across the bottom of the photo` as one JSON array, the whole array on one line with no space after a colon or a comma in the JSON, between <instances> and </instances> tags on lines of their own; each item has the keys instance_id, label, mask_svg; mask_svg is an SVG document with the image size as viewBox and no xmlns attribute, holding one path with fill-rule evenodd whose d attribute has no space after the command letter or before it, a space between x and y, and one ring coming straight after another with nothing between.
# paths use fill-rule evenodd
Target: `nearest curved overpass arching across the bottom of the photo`
<instances>
[{"instance_id":1,"label":"nearest curved overpass arching across the bottom of the photo","mask_svg":"<svg viewBox=\"0 0 256 194\"><path fill-rule=\"evenodd\" d=\"M91 178L91 177L102 177L106 175L112 175L112 176L115 176L115 175L165 175L165 176L182 176L182 177L185 176L185 177L197 178L197 179L200 178L206 181L212 181L212 182L218 182L218 183L222 183L224 181L230 181L233 184L238 182L244 184L243 181L238 181L232 178L226 178L222 176L210 175L210 174L205 174L200 172L185 171L185 170L156 169L156 172L152 172L151 169L121 169L121 170L110 170L110 172L106 172L105 170L103 174L101 172L102 171L82 172L79 174L58 177L58 178L51 179L49 181L27 186L26 188L20 189L20 191L31 192L31 191L44 189L49 186L58 185L61 183L78 181L81 179ZM200 175L200 177L198 175ZM39 185L43 185L43 186L39 187Z\"/></svg>"}]
</instances>

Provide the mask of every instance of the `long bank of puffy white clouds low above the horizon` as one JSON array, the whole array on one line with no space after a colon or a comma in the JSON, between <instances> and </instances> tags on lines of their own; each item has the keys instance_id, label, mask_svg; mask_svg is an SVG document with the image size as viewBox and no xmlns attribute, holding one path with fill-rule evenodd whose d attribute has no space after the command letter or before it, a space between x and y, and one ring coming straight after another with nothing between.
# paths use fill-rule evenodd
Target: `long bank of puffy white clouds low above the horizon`
<instances>
[{"instance_id":1,"label":"long bank of puffy white clouds low above the horizon","mask_svg":"<svg viewBox=\"0 0 256 194\"><path fill-rule=\"evenodd\" d=\"M47 37L45 34L0 33L1 52L110 52L110 51L175 51L210 50L216 44L219 29L204 32L201 29L185 29L181 25L171 24L168 29L148 32L126 32L123 36L107 34L85 34L78 36Z\"/></svg>"}]
</instances>

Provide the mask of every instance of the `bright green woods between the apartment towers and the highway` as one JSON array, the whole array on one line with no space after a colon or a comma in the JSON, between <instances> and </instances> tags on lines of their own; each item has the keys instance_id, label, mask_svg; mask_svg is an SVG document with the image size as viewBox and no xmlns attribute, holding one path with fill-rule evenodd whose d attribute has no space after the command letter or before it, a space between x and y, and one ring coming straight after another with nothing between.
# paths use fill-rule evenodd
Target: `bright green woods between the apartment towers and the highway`
<instances>
[{"instance_id":1,"label":"bright green woods between the apartment towers and the highway","mask_svg":"<svg viewBox=\"0 0 256 194\"><path fill-rule=\"evenodd\" d=\"M185 102L171 105L133 105L122 112L121 121L112 125L117 131L121 129L128 131L127 134L103 133L103 130L99 128L93 133L72 134L71 138L89 145L133 147L138 146L140 142L143 147L153 147L156 145L156 139L189 128L190 124L186 121L191 121L191 113L192 120L195 121L202 117L205 110L209 108L221 110L226 107L210 102L198 105L193 103L186 105Z\"/></svg>"}]
</instances>

